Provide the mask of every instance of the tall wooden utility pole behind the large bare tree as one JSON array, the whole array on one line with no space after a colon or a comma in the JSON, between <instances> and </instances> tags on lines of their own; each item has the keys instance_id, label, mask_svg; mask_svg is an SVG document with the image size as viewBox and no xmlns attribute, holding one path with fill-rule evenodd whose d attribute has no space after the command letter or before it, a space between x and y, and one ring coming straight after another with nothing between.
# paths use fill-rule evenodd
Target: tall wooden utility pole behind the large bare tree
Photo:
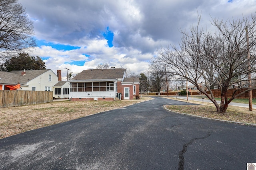
<instances>
[{"instance_id":1,"label":"tall wooden utility pole behind the large bare tree","mask_svg":"<svg viewBox=\"0 0 256 170\"><path fill-rule=\"evenodd\" d=\"M247 47L247 59L248 59L248 81L249 81L249 89L252 88L252 80L251 80L251 62L250 62L250 49L249 49L249 35L248 35L248 27L245 27L246 31L246 47ZM252 90L248 92L248 98L249 98L249 111L252 111Z\"/></svg>"}]
</instances>

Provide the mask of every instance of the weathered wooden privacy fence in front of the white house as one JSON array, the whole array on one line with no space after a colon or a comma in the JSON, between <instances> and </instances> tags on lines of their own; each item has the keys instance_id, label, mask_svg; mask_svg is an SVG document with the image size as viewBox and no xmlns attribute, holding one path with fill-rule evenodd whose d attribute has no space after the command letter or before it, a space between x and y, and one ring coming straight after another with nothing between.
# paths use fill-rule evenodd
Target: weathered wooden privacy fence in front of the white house
<instances>
[{"instance_id":1,"label":"weathered wooden privacy fence in front of the white house","mask_svg":"<svg viewBox=\"0 0 256 170\"><path fill-rule=\"evenodd\" d=\"M48 91L0 90L0 108L52 102Z\"/></svg>"}]
</instances>

